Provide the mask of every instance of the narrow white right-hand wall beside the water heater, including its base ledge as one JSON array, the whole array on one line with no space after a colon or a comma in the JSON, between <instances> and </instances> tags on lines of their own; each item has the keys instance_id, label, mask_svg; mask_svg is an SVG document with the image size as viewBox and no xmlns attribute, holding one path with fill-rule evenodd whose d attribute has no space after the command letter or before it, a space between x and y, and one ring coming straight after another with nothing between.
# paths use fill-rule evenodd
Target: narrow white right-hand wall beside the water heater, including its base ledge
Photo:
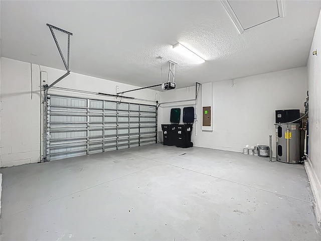
<instances>
[{"instance_id":1,"label":"narrow white right-hand wall beside the water heater, including its base ledge","mask_svg":"<svg viewBox=\"0 0 321 241\"><path fill-rule=\"evenodd\" d=\"M317 50L317 55L312 52ZM308 159L305 169L311 183L316 214L321 221L321 13L316 25L307 62L307 89L309 91L309 139Z\"/></svg>"}]
</instances>

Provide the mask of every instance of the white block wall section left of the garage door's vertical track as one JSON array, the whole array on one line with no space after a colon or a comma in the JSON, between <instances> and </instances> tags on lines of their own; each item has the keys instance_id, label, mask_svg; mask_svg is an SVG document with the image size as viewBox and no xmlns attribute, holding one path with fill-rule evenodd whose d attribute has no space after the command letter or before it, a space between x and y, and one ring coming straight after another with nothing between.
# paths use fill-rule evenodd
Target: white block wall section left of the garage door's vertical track
<instances>
[{"instance_id":1,"label":"white block wall section left of the garage door's vertical track","mask_svg":"<svg viewBox=\"0 0 321 241\"><path fill-rule=\"evenodd\" d=\"M39 66L6 58L1 59L1 64L2 167L38 162L41 158Z\"/></svg>"}]
</instances>

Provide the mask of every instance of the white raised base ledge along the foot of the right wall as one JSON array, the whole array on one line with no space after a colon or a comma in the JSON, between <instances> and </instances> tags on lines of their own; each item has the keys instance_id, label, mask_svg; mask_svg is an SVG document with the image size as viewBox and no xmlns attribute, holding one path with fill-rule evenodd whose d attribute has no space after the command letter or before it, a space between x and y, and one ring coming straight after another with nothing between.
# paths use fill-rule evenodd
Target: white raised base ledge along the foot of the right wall
<instances>
[{"instance_id":1,"label":"white raised base ledge along the foot of the right wall","mask_svg":"<svg viewBox=\"0 0 321 241\"><path fill-rule=\"evenodd\" d=\"M304 162L305 171L310 181L312 193L314 196L314 208L317 221L321 222L321 184L317 178L312 166L311 161L307 159Z\"/></svg>"}]
</instances>

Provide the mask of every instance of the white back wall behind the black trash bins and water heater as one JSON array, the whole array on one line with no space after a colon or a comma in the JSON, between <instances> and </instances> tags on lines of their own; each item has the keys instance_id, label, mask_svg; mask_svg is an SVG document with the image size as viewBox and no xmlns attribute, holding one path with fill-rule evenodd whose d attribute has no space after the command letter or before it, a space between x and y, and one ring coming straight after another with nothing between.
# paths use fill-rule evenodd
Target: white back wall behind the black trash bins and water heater
<instances>
[{"instance_id":1,"label":"white back wall behind the black trash bins and water heater","mask_svg":"<svg viewBox=\"0 0 321 241\"><path fill-rule=\"evenodd\" d=\"M274 151L275 110L298 108L304 112L305 94L306 67L238 78L233 87L232 80L213 82L213 132L202 131L199 96L198 122L194 125L192 142L198 147L242 152L245 145L268 145L272 135ZM194 97L195 87L161 92L161 102ZM181 103L161 105L160 122L168 124L170 109L185 106L193 106L193 101L184 106Z\"/></svg>"}]
</instances>

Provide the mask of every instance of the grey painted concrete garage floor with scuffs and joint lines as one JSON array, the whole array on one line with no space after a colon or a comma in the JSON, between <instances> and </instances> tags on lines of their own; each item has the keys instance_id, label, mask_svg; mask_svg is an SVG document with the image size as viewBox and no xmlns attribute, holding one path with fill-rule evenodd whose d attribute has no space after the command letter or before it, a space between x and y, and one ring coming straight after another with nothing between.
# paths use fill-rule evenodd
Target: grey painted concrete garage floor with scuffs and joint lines
<instances>
[{"instance_id":1,"label":"grey painted concrete garage floor with scuffs and joint lines","mask_svg":"<svg viewBox=\"0 0 321 241\"><path fill-rule=\"evenodd\" d=\"M2 173L3 241L321 240L302 165L157 144Z\"/></svg>"}]
</instances>

